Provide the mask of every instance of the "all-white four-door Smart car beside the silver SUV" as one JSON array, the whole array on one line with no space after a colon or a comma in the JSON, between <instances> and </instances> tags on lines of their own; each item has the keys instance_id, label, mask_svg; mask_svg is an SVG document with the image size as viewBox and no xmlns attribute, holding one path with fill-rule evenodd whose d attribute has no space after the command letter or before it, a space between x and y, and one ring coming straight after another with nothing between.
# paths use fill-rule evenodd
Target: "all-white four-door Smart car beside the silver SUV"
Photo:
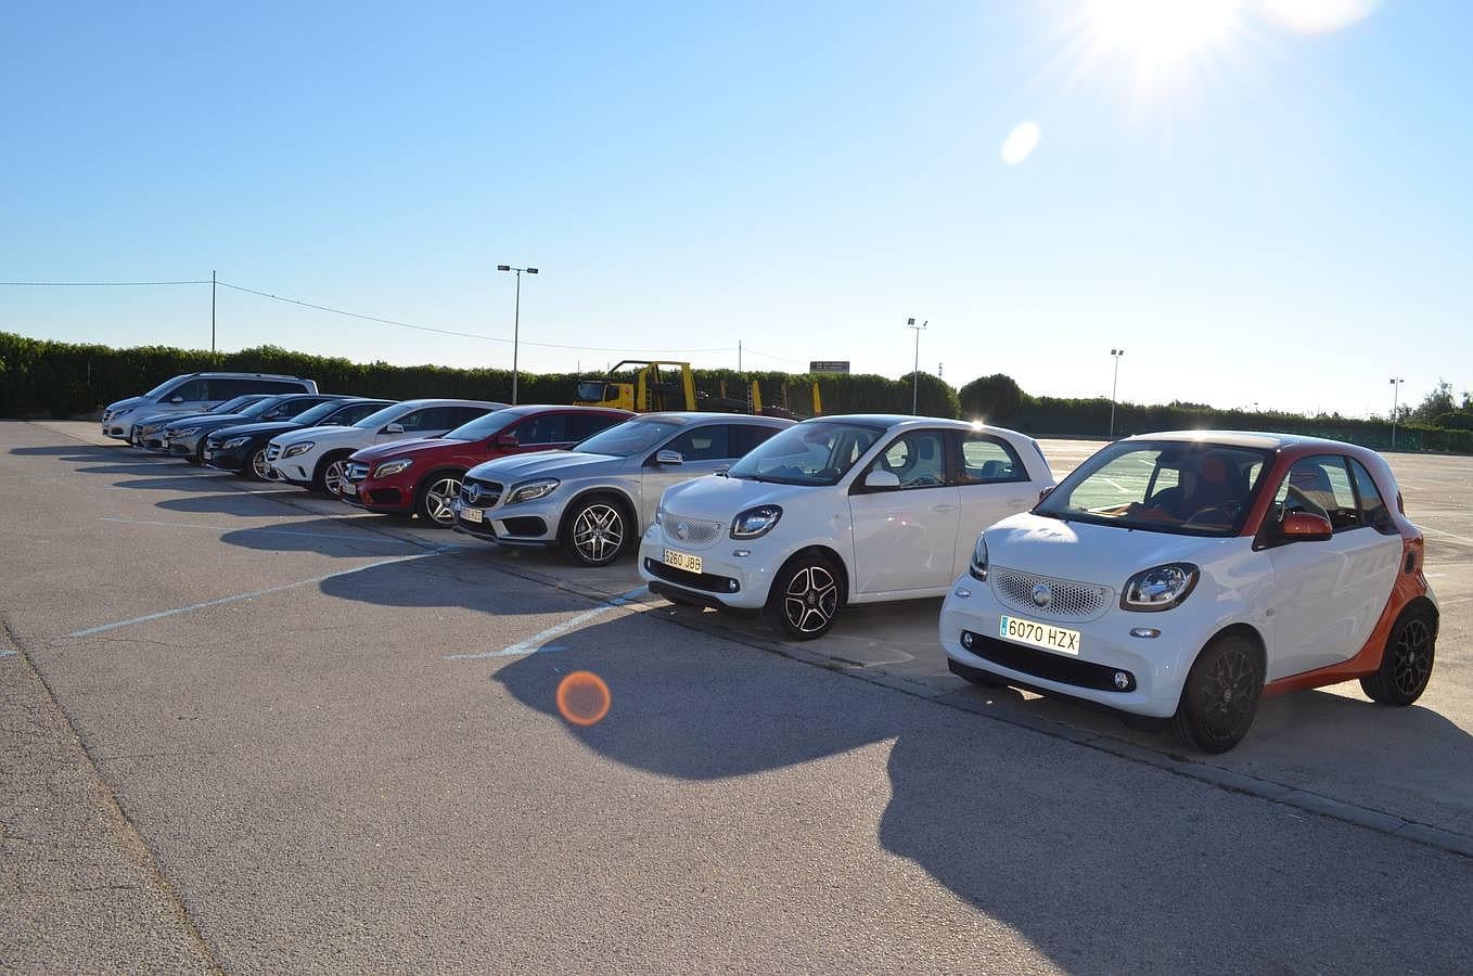
<instances>
[{"instance_id":1,"label":"all-white four-door Smart car beside the silver SUV","mask_svg":"<svg viewBox=\"0 0 1473 976\"><path fill-rule=\"evenodd\" d=\"M714 474L666 489L639 576L679 604L766 609L822 636L844 604L941 596L978 530L1053 484L1016 431L931 417L803 421Z\"/></svg>"}]
</instances>

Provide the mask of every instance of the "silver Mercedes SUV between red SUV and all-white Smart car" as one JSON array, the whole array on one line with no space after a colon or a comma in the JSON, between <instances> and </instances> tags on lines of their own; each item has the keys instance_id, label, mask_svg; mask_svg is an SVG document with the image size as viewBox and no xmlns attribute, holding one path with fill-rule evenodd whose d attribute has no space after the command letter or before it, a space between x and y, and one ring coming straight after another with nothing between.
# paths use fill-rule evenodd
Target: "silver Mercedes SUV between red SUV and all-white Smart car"
<instances>
[{"instance_id":1,"label":"silver Mercedes SUV between red SUV and all-white Smart car","mask_svg":"<svg viewBox=\"0 0 1473 976\"><path fill-rule=\"evenodd\" d=\"M583 565L633 548L664 489L728 468L791 420L741 414L645 414L572 450L476 465L451 508L455 531L504 546L557 546Z\"/></svg>"}]
</instances>

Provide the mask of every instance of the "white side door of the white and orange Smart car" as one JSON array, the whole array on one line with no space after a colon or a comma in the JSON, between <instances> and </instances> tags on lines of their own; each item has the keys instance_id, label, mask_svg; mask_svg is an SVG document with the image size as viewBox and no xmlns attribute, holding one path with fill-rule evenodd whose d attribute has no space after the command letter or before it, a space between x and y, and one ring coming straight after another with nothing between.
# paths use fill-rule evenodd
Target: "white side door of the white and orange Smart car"
<instances>
[{"instance_id":1,"label":"white side door of the white and orange Smart car","mask_svg":"<svg viewBox=\"0 0 1473 976\"><path fill-rule=\"evenodd\" d=\"M1335 534L1270 551L1274 646L1268 680L1355 657L1391 599L1401 564L1401 536L1365 517L1370 509L1358 503L1340 455L1295 462L1274 502L1279 511L1326 515Z\"/></svg>"}]
</instances>

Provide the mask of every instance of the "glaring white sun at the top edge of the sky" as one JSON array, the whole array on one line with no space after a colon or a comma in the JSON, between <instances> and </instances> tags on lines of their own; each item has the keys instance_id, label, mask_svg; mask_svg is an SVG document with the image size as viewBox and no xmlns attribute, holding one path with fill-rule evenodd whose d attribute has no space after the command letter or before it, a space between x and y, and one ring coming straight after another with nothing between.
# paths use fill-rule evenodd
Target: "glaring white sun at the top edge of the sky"
<instances>
[{"instance_id":1,"label":"glaring white sun at the top edge of the sky","mask_svg":"<svg viewBox=\"0 0 1473 976\"><path fill-rule=\"evenodd\" d=\"M1161 69L1228 37L1243 0L1087 0L1086 10L1099 49Z\"/></svg>"}]
</instances>

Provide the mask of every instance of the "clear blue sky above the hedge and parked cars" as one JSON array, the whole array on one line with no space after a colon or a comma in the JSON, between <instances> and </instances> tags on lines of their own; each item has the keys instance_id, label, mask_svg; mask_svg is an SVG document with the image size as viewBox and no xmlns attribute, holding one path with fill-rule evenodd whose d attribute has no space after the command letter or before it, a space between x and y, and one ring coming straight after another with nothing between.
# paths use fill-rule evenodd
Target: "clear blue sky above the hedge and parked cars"
<instances>
[{"instance_id":1,"label":"clear blue sky above the hedge and parked cars","mask_svg":"<svg viewBox=\"0 0 1473 976\"><path fill-rule=\"evenodd\" d=\"M1473 6L1193 0L1230 22L1165 57L1102 1L22 4L0 280L217 269L510 339L495 265L530 264L521 337L586 349L529 369L739 340L900 375L915 315L957 386L1108 395L1111 347L1137 402L1473 386ZM1302 32L1262 3L1365 9ZM224 289L218 321L225 349L511 362ZM4 287L0 328L208 346L209 289Z\"/></svg>"}]
</instances>

